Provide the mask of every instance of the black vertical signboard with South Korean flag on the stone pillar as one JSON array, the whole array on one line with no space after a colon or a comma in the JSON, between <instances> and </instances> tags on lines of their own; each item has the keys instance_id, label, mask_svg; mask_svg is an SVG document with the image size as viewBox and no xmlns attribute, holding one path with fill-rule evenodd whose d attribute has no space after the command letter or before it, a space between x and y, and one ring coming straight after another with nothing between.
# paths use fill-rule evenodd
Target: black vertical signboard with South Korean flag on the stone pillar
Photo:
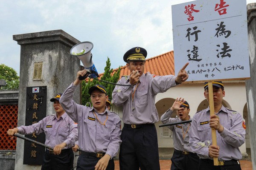
<instances>
[{"instance_id":1,"label":"black vertical signboard with South Korean flag on the stone pillar","mask_svg":"<svg viewBox=\"0 0 256 170\"><path fill-rule=\"evenodd\" d=\"M42 132L43 127L38 127L38 122L46 116L47 108L47 86L27 87L26 89L26 119L25 125L31 126ZM35 127L33 127L35 126ZM39 129L38 129L39 128ZM45 134L35 131L30 135L25 135L27 138L40 143L45 143ZM33 142L24 142L23 164L41 165L44 161L45 148Z\"/></svg>"}]
</instances>

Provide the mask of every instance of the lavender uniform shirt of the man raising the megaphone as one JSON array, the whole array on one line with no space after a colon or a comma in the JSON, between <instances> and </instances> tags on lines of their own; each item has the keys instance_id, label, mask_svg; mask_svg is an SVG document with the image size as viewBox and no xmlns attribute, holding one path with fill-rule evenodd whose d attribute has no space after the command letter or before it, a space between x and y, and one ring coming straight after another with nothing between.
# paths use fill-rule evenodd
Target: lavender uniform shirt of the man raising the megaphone
<instances>
[{"instance_id":1,"label":"lavender uniform shirt of the man raising the megaphone","mask_svg":"<svg viewBox=\"0 0 256 170\"><path fill-rule=\"evenodd\" d=\"M76 87L72 83L62 94L60 103L71 119L78 122L79 148L85 152L106 153L112 159L121 143L121 119L107 107L103 113L98 113L93 107L74 102Z\"/></svg>"}]
</instances>

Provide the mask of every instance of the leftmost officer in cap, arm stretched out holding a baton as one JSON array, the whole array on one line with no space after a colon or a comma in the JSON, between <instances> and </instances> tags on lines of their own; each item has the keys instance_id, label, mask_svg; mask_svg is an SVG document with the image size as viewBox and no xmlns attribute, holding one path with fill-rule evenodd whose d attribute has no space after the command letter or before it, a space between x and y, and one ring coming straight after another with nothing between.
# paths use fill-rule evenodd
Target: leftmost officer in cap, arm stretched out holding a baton
<instances>
[{"instance_id":1,"label":"leftmost officer in cap, arm stretched out holding a baton","mask_svg":"<svg viewBox=\"0 0 256 170\"><path fill-rule=\"evenodd\" d=\"M45 133L45 144L53 150L46 149L41 170L70 170L73 169L74 153L71 149L78 139L77 124L65 113L59 103L61 93L50 99L53 102L55 115L49 115L30 126L20 126L9 129L8 134Z\"/></svg>"}]
</instances>

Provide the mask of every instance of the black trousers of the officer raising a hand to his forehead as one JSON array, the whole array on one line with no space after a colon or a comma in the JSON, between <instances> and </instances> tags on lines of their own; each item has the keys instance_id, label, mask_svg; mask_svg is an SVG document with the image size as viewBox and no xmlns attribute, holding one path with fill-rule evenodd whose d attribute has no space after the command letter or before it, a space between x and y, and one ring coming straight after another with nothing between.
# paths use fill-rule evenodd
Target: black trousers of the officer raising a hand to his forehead
<instances>
[{"instance_id":1,"label":"black trousers of the officer raising a hand to his forehead","mask_svg":"<svg viewBox=\"0 0 256 170\"><path fill-rule=\"evenodd\" d=\"M196 153L184 155L182 151L175 149L171 160L171 170L198 170L199 157Z\"/></svg>"}]
</instances>

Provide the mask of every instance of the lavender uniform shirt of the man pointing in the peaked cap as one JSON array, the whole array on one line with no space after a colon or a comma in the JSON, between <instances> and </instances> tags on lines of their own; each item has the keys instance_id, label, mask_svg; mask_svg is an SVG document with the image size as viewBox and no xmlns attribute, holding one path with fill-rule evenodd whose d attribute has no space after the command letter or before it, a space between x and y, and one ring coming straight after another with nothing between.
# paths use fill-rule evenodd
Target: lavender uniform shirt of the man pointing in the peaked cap
<instances>
[{"instance_id":1,"label":"lavender uniform shirt of the man pointing in the peaked cap","mask_svg":"<svg viewBox=\"0 0 256 170\"><path fill-rule=\"evenodd\" d=\"M123 122L130 125L158 122L155 96L176 86L175 78L173 75L156 76L146 73L142 74L137 85L131 85L129 77L122 77L117 84L131 86L116 85L112 101L116 106L123 107Z\"/></svg>"}]
</instances>

